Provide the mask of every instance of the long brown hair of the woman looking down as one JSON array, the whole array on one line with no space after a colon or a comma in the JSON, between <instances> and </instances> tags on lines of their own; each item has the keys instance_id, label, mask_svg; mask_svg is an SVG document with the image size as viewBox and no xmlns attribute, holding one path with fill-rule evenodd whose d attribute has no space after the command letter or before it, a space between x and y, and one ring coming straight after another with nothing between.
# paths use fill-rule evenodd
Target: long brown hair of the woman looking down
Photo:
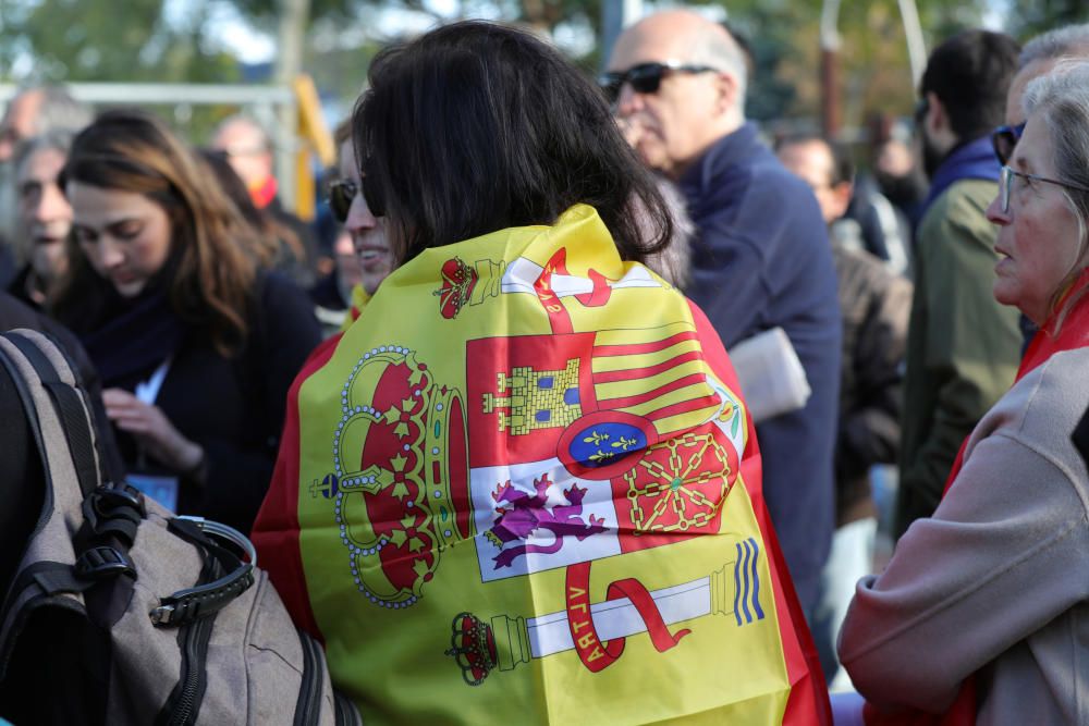
<instances>
[{"instance_id":1,"label":"long brown hair of the woman looking down","mask_svg":"<svg viewBox=\"0 0 1089 726\"><path fill-rule=\"evenodd\" d=\"M244 250L257 242L189 148L149 113L108 111L75 137L61 184L73 181L142 194L162 207L171 224L170 275L163 280L171 308L189 323L207 325L221 354L236 353L246 337L256 274ZM105 307L109 283L71 236L69 249L72 266L53 311L84 332Z\"/></svg>"}]
</instances>

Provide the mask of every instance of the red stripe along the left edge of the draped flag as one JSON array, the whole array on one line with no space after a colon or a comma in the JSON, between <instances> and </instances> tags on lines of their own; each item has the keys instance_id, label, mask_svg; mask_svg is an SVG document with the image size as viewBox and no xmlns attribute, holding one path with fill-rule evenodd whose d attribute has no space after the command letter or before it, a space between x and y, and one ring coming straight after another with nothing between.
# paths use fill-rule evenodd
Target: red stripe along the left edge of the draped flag
<instances>
[{"instance_id":1,"label":"red stripe along the left edge of the draped flag","mask_svg":"<svg viewBox=\"0 0 1089 726\"><path fill-rule=\"evenodd\" d=\"M319 640L322 640L321 632L310 610L298 545L298 390L307 378L329 362L340 339L338 333L315 348L287 391L283 435L272 484L257 513L250 534L257 547L257 561L269 574L295 625Z\"/></svg>"}]
</instances>

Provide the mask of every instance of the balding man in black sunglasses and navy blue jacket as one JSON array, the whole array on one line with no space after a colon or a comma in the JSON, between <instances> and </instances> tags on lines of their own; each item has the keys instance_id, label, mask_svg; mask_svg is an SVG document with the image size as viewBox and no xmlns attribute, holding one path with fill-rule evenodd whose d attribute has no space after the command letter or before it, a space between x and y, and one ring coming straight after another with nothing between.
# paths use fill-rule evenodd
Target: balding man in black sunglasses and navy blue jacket
<instances>
[{"instance_id":1,"label":"balding man in black sunglasses and navy blue jacket","mask_svg":"<svg viewBox=\"0 0 1089 726\"><path fill-rule=\"evenodd\" d=\"M644 161L678 183L696 223L685 288L726 347L782 328L812 395L757 424L764 497L807 614L834 525L832 450L840 309L828 234L808 186L745 120L746 54L722 26L683 10L616 41L602 78Z\"/></svg>"}]
</instances>

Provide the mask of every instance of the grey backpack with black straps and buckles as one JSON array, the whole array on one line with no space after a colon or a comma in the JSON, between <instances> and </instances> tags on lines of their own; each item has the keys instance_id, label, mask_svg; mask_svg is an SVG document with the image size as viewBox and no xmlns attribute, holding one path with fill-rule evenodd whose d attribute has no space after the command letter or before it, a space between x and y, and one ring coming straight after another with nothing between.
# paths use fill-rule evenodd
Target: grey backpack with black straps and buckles
<instances>
[{"instance_id":1,"label":"grey backpack with black straps and buckles","mask_svg":"<svg viewBox=\"0 0 1089 726\"><path fill-rule=\"evenodd\" d=\"M7 698L30 692L21 679L49 678L49 702L22 704L24 718L360 723L245 537L105 479L86 394L49 339L0 334L0 365L19 389L46 488L0 611Z\"/></svg>"}]
</instances>

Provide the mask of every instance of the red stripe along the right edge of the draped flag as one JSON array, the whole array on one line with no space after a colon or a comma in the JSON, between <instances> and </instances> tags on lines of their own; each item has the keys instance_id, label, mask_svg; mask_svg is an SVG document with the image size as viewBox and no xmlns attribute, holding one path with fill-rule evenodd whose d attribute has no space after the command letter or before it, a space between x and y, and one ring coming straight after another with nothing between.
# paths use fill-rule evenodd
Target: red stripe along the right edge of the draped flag
<instances>
[{"instance_id":1,"label":"red stripe along the right edge of the draped flag","mask_svg":"<svg viewBox=\"0 0 1089 726\"><path fill-rule=\"evenodd\" d=\"M695 303L689 300L688 305L703 348L703 357L711 370L731 391L741 391L737 373L734 372L734 366L730 362L725 348L722 347L719 334L714 332L711 322ZM786 702L786 713L783 714L783 724L831 726L832 705L828 699L820 657L817 655L817 647L813 644L798 596L794 592L794 581L786 568L786 559L780 550L779 538L771 526L768 506L763 501L762 463L756 439L756 427L751 418L748 421L748 444L742 462L742 478L745 480L745 488L752 501L752 510L756 513L764 545L768 547L768 561L774 565L772 577L780 586L774 589L775 611L780 616L783 655L791 679L791 696Z\"/></svg>"}]
</instances>

